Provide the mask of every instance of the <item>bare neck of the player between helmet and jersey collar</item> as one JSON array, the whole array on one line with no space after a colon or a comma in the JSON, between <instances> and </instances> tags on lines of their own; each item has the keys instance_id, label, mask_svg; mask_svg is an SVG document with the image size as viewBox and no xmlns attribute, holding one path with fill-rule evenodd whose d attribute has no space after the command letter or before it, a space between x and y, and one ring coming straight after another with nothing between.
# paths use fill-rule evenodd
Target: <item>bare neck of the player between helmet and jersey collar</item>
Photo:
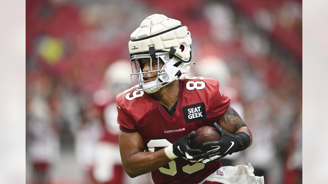
<instances>
[{"instance_id":1,"label":"bare neck of the player between helmet and jersey collar","mask_svg":"<svg viewBox=\"0 0 328 184\"><path fill-rule=\"evenodd\" d=\"M162 87L154 93L154 97L168 109L173 107L179 96L179 80L174 80L172 83Z\"/></svg>"}]
</instances>

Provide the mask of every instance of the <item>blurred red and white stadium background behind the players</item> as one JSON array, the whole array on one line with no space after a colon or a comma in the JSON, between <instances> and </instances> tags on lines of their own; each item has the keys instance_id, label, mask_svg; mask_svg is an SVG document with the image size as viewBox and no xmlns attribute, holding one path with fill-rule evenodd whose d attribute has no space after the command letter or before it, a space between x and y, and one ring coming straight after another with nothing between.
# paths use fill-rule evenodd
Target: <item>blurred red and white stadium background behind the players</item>
<instances>
[{"instance_id":1,"label":"blurred red and white stadium background behind the players","mask_svg":"<svg viewBox=\"0 0 328 184\"><path fill-rule=\"evenodd\" d=\"M27 183L97 183L95 147L117 142L106 107L130 71L112 64L129 64L130 34L154 13L188 27L190 75L218 78L252 130L253 145L223 164L250 162L266 184L302 183L300 0L26 1Z\"/></svg>"}]
</instances>

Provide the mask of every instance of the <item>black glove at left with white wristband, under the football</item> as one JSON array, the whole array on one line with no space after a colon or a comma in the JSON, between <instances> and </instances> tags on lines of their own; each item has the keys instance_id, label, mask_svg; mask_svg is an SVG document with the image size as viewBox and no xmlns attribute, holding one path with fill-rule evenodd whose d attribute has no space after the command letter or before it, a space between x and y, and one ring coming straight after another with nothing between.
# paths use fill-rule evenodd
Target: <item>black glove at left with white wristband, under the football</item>
<instances>
[{"instance_id":1,"label":"black glove at left with white wristband, under the football","mask_svg":"<svg viewBox=\"0 0 328 184\"><path fill-rule=\"evenodd\" d=\"M202 151L193 150L189 146L189 142L193 138L194 134L195 131L192 131L190 134L179 138L169 147L166 147L164 150L166 156L171 160L177 157L185 157L187 160L192 162L201 161L202 158L200 154L202 154Z\"/></svg>"}]
</instances>

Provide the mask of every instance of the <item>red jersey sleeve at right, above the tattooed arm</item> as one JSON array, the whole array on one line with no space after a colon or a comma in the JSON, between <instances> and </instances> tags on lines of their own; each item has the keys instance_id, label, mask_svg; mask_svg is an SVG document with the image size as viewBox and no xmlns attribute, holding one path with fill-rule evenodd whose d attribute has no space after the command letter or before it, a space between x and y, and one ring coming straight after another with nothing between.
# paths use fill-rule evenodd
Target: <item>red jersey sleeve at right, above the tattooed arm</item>
<instances>
[{"instance_id":1,"label":"red jersey sleeve at right, above the tattooed arm","mask_svg":"<svg viewBox=\"0 0 328 184\"><path fill-rule=\"evenodd\" d=\"M215 86L214 93L209 102L209 111L211 111L211 119L214 121L221 120L223 115L227 112L230 105L230 98L225 96L219 90L219 83Z\"/></svg>"}]
</instances>

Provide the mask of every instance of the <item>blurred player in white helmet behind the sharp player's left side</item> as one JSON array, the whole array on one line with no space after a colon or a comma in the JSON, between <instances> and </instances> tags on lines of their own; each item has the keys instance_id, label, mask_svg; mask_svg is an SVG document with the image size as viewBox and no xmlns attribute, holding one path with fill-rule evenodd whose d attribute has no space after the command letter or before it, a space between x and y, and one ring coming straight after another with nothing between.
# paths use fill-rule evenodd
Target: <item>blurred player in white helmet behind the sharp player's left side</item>
<instances>
[{"instance_id":1,"label":"blurred player in white helmet behind the sharp player's left side","mask_svg":"<svg viewBox=\"0 0 328 184\"><path fill-rule=\"evenodd\" d=\"M98 184L147 184L150 175L130 178L123 170L118 147L119 125L115 97L131 87L129 61L118 60L110 64L104 74L104 89L94 93L94 103L100 109L102 136L96 143L91 177Z\"/></svg>"}]
</instances>

